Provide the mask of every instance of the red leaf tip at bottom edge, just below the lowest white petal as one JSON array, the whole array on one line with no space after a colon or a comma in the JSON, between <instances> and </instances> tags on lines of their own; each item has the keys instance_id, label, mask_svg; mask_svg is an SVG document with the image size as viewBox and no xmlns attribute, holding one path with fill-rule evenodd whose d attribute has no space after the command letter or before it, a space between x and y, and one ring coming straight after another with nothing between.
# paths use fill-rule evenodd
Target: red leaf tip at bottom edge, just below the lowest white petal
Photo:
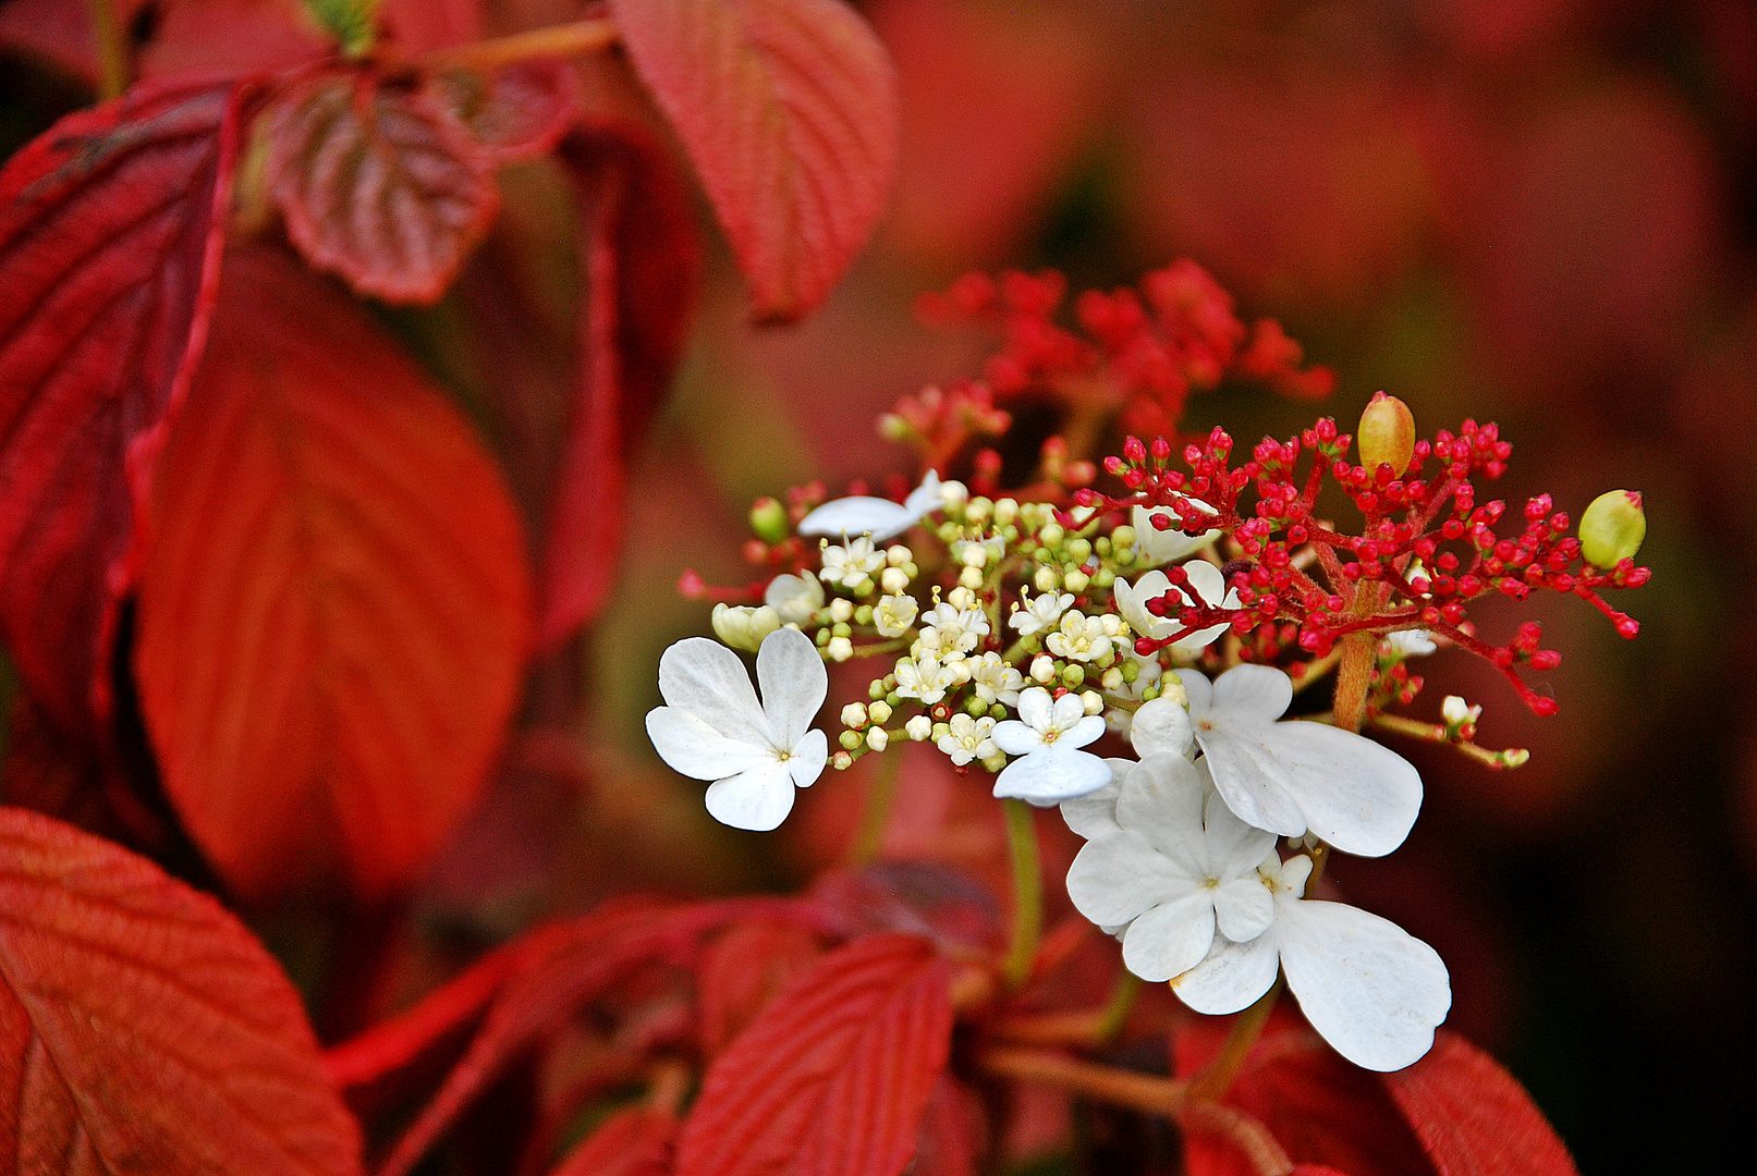
<instances>
[{"instance_id":1,"label":"red leaf tip at bottom edge, just below the lowest white petal","mask_svg":"<svg viewBox=\"0 0 1757 1176\"><path fill-rule=\"evenodd\" d=\"M1518 1079L1457 1034L1381 1081L1441 1176L1578 1176Z\"/></svg>"}]
</instances>

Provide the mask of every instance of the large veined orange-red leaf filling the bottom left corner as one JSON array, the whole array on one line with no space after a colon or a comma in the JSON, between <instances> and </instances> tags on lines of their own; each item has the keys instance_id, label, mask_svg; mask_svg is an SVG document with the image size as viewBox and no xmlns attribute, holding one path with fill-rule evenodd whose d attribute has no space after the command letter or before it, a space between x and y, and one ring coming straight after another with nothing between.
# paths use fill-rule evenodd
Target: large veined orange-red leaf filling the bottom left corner
<instances>
[{"instance_id":1,"label":"large veined orange-red leaf filling the bottom left corner","mask_svg":"<svg viewBox=\"0 0 1757 1176\"><path fill-rule=\"evenodd\" d=\"M0 809L0 1155L18 1172L351 1176L299 995L206 895Z\"/></svg>"}]
</instances>

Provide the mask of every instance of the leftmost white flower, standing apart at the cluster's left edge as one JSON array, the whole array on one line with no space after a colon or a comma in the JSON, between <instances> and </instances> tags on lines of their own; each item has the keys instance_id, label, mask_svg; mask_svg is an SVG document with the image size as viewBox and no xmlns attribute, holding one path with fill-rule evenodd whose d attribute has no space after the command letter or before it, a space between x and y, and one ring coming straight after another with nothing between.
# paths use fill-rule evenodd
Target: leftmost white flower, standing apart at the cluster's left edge
<instances>
[{"instance_id":1,"label":"leftmost white flower, standing apart at the cluster's left edge","mask_svg":"<svg viewBox=\"0 0 1757 1176\"><path fill-rule=\"evenodd\" d=\"M685 637L659 658L666 706L647 713L659 758L708 785L708 813L734 828L775 828L792 790L824 771L828 739L812 730L829 674L812 639L777 628L757 651L757 702L743 662L706 637Z\"/></svg>"}]
</instances>

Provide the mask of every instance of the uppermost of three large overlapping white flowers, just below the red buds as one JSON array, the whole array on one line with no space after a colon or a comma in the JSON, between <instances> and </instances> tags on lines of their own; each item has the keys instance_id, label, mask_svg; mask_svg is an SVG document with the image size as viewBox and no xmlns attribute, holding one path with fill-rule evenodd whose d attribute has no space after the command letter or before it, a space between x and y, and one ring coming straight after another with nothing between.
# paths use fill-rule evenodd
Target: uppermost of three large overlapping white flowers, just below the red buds
<instances>
[{"instance_id":1,"label":"uppermost of three large overlapping white flowers, just below the red buds","mask_svg":"<svg viewBox=\"0 0 1757 1176\"><path fill-rule=\"evenodd\" d=\"M1309 828L1363 857L1390 853L1409 835L1421 776L1390 748L1339 727L1277 723L1293 700L1291 678L1267 665L1239 665L1212 683L1195 670L1177 678L1214 786L1240 820L1284 837Z\"/></svg>"}]
</instances>

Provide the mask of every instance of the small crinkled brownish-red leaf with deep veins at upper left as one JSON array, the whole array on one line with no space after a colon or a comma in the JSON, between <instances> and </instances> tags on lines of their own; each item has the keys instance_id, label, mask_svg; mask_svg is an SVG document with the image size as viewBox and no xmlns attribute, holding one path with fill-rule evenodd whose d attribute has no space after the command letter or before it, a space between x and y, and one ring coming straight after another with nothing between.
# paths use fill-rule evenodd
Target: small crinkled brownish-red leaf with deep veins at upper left
<instances>
[{"instance_id":1,"label":"small crinkled brownish-red leaf with deep veins at upper left","mask_svg":"<svg viewBox=\"0 0 1757 1176\"><path fill-rule=\"evenodd\" d=\"M269 195L320 270L387 302L434 302L499 207L494 158L434 93L318 74L265 114Z\"/></svg>"}]
</instances>

